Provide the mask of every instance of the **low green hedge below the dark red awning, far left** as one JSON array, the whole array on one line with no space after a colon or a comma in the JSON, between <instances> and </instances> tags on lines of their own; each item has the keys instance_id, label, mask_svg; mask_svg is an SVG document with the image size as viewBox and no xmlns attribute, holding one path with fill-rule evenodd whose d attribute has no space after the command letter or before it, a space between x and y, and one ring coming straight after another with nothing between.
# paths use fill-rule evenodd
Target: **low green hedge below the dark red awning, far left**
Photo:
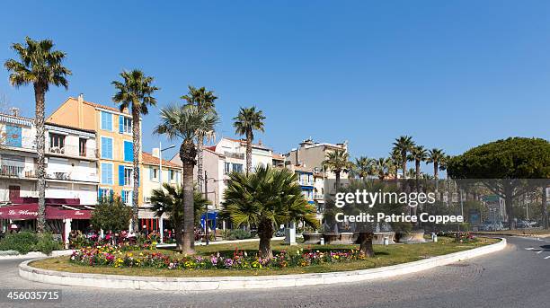
<instances>
[{"instance_id":1,"label":"low green hedge below the dark red awning, far left","mask_svg":"<svg viewBox=\"0 0 550 308\"><path fill-rule=\"evenodd\" d=\"M6 234L0 240L0 251L18 251L25 254L31 251L40 251L47 255L51 251L60 250L63 244L54 239L51 233L31 233L28 231L21 233Z\"/></svg>"}]
</instances>

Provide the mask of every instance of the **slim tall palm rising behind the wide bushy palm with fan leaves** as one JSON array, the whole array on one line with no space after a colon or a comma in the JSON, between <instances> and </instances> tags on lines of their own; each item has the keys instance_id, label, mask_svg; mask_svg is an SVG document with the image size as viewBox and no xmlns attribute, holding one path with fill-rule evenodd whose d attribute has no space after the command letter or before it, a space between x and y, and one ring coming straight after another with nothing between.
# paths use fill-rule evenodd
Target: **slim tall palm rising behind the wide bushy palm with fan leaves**
<instances>
[{"instance_id":1,"label":"slim tall palm rising behind the wide bushy palm with fan leaves","mask_svg":"<svg viewBox=\"0 0 550 308\"><path fill-rule=\"evenodd\" d=\"M263 116L262 110L256 111L256 107L251 108L241 107L239 114L233 118L235 122L235 134L246 136L246 172L252 169L252 143L254 139L254 130L263 131Z\"/></svg>"}]
</instances>

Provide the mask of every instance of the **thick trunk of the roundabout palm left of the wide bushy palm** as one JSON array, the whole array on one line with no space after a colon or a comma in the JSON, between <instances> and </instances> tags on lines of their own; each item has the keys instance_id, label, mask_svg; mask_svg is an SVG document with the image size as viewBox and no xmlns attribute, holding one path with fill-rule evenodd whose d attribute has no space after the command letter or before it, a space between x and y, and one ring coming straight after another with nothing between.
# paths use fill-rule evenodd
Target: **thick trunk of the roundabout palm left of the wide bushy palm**
<instances>
[{"instance_id":1,"label":"thick trunk of the roundabout palm left of the wide bushy palm","mask_svg":"<svg viewBox=\"0 0 550 308\"><path fill-rule=\"evenodd\" d=\"M193 168L195 167L197 148L192 140L183 140L180 158L183 164L183 240L182 253L195 253L195 213L193 198Z\"/></svg>"}]
</instances>

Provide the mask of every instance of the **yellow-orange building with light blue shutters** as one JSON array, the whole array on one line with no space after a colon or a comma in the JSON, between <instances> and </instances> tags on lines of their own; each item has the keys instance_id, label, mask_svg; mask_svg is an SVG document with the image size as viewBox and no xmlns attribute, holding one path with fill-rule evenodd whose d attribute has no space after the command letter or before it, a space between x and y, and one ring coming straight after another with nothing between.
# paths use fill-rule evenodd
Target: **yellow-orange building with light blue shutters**
<instances>
[{"instance_id":1,"label":"yellow-orange building with light blue shutters","mask_svg":"<svg viewBox=\"0 0 550 308\"><path fill-rule=\"evenodd\" d=\"M115 107L68 98L47 119L48 122L96 132L97 170L99 174L98 197L118 195L131 204L133 188L132 116L128 110L120 112ZM141 136L141 133L139 134ZM141 161L141 153L139 154ZM139 173L139 169L137 170ZM143 196L141 185L139 195ZM138 204L143 204L139 198Z\"/></svg>"}]
</instances>

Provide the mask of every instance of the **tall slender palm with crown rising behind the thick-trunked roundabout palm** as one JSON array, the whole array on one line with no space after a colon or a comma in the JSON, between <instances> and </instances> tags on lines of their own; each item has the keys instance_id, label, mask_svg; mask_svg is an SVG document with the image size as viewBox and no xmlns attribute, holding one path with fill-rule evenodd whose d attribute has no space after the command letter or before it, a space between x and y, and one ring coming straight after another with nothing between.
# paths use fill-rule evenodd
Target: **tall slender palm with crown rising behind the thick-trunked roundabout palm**
<instances>
[{"instance_id":1,"label":"tall slender palm with crown rising behind the thick-trunked roundabout palm","mask_svg":"<svg viewBox=\"0 0 550 308\"><path fill-rule=\"evenodd\" d=\"M189 86L189 92L186 95L181 97L182 100L187 101L188 104L196 105L199 109L210 110L216 112L216 104L214 101L217 100L217 96L214 95L214 92L208 91L205 87L200 87L199 89ZM207 141L214 137L213 133L210 132L206 135ZM198 136L197 138L197 183L198 189L202 192L202 186L204 183L204 172L203 172L203 156L204 156L204 138L205 136Z\"/></svg>"}]
</instances>

